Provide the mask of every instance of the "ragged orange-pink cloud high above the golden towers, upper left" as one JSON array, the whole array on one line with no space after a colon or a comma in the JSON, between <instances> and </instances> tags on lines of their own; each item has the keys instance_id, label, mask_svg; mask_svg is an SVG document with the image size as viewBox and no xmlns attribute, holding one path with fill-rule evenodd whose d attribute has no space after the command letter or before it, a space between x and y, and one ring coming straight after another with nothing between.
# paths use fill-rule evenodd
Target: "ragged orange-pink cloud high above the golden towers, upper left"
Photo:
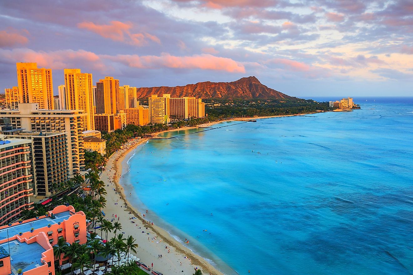
<instances>
[{"instance_id":1,"label":"ragged orange-pink cloud high above the golden towers, upper left","mask_svg":"<svg viewBox=\"0 0 413 275\"><path fill-rule=\"evenodd\" d=\"M148 39L158 44L161 43L161 40L155 35L149 33L131 33L131 28L133 28L131 22L123 23L121 21L110 21L109 25L99 25L90 21L84 21L77 24L77 26L78 28L97 33L104 38L109 38L129 45L144 46L147 45Z\"/></svg>"}]
</instances>

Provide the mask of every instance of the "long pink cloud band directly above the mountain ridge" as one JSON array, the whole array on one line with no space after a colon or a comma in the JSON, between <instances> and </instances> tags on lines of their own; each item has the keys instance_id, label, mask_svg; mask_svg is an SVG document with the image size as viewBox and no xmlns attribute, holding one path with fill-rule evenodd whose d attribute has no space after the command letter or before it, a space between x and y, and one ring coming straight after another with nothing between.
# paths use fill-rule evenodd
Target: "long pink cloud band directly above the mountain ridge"
<instances>
[{"instance_id":1,"label":"long pink cloud band directly above the mountain ridge","mask_svg":"<svg viewBox=\"0 0 413 275\"><path fill-rule=\"evenodd\" d=\"M173 56L170 54L162 54L161 56L138 56L136 54L118 54L116 56L106 55L104 58L135 68L179 68L245 73L245 68L241 63L230 58L217 57L211 54L192 56Z\"/></svg>"}]
</instances>

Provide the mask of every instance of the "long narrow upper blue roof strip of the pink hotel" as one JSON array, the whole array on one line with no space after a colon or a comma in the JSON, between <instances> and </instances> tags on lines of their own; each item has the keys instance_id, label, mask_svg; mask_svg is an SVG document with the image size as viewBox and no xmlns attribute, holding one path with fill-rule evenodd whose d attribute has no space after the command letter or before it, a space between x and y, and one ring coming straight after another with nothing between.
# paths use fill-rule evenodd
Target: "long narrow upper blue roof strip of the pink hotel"
<instances>
[{"instance_id":1,"label":"long narrow upper blue roof strip of the pink hotel","mask_svg":"<svg viewBox=\"0 0 413 275\"><path fill-rule=\"evenodd\" d=\"M32 227L35 229L38 229L42 227L47 227L49 223L54 224L54 223L58 223L59 221L62 222L63 220L67 219L69 216L71 216L70 212L65 211L62 213L55 214L55 219L52 219L50 217L45 217L42 219L34 220L29 223L20 223L15 226L8 226L0 230L0 240L6 239L7 234L9 237L13 237L14 235L18 235L20 232L24 233L24 232L30 231Z\"/></svg>"}]
</instances>

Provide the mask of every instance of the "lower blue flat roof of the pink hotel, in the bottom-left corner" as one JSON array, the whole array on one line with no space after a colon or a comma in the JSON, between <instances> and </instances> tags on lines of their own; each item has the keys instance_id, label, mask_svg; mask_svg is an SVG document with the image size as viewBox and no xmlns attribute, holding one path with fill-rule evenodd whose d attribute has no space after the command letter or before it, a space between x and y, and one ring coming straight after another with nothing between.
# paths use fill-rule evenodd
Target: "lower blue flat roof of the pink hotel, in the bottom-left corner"
<instances>
[{"instance_id":1,"label":"lower blue flat roof of the pink hotel, in the bottom-left corner","mask_svg":"<svg viewBox=\"0 0 413 275\"><path fill-rule=\"evenodd\" d=\"M21 268L24 271L31 270L41 265L42 253L45 251L37 242L27 244L13 240L0 245L5 251L10 249L10 263L12 268ZM8 253L8 252L7 252ZM13 273L10 273L13 274Z\"/></svg>"}]
</instances>

